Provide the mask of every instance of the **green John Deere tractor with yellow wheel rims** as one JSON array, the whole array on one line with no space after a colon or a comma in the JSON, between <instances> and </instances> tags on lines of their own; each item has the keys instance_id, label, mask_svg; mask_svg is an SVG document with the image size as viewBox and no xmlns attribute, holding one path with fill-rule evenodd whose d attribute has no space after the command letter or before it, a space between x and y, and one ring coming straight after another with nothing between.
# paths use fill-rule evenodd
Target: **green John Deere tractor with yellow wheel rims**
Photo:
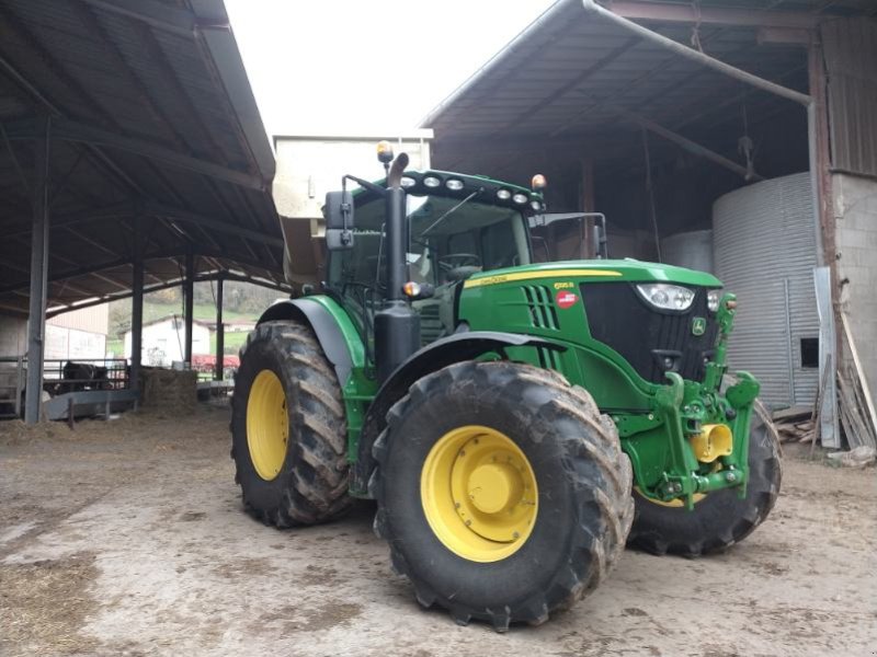
<instances>
[{"instance_id":1,"label":"green John Deere tractor with yellow wheel rims","mask_svg":"<svg viewBox=\"0 0 877 657\"><path fill-rule=\"evenodd\" d=\"M594 590L628 542L695 556L765 519L778 443L759 383L726 374L718 279L536 264L542 176L379 159L386 180L327 195L320 292L269 308L241 349L250 514L307 526L374 499L418 601L498 631Z\"/></svg>"}]
</instances>

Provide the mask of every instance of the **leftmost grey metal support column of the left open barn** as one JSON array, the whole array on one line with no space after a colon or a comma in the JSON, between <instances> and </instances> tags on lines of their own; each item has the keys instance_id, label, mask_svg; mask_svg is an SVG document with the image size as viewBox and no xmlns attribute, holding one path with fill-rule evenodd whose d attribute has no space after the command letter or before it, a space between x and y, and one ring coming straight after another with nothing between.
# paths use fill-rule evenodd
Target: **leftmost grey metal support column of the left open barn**
<instances>
[{"instance_id":1,"label":"leftmost grey metal support column of the left open barn","mask_svg":"<svg viewBox=\"0 0 877 657\"><path fill-rule=\"evenodd\" d=\"M38 122L34 139L34 223L31 233L31 307L27 316L27 383L24 422L39 422L43 396L43 348L48 291L48 176L52 127L48 116Z\"/></svg>"}]
</instances>

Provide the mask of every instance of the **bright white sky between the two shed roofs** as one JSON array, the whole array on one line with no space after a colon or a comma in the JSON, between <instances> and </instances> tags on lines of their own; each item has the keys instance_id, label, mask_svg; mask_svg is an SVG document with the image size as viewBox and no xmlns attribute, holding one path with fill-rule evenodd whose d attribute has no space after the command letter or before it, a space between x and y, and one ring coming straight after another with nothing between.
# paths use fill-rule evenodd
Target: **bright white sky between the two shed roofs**
<instances>
[{"instance_id":1,"label":"bright white sky between the two shed roofs","mask_svg":"<svg viewBox=\"0 0 877 657\"><path fill-rule=\"evenodd\" d=\"M399 132L553 0L226 0L270 135Z\"/></svg>"}]
</instances>

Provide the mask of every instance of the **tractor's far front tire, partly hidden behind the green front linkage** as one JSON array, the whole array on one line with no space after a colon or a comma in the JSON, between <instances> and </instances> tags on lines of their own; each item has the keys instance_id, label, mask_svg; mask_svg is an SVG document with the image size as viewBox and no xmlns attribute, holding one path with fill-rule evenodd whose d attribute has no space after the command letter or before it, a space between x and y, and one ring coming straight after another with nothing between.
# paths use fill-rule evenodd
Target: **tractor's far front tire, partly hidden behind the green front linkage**
<instances>
[{"instance_id":1,"label":"tractor's far front tire, partly hidden behind the green front linkage","mask_svg":"<svg viewBox=\"0 0 877 657\"><path fill-rule=\"evenodd\" d=\"M629 544L652 554L696 557L728 550L764 522L779 494L783 471L779 439L771 414L755 400L749 429L747 495L726 488L708 493L694 510L667 506L637 493Z\"/></svg>"}]
</instances>

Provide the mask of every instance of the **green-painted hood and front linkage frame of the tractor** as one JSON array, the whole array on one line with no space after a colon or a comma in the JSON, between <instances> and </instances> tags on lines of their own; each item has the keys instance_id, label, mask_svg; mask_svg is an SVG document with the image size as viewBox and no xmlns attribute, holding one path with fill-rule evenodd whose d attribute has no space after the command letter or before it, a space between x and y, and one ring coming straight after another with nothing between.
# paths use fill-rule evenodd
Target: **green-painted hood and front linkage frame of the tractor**
<instances>
[{"instance_id":1,"label":"green-painted hood and front linkage frame of the tractor","mask_svg":"<svg viewBox=\"0 0 877 657\"><path fill-rule=\"evenodd\" d=\"M585 273L570 276L568 273L576 268ZM718 393L726 371L725 349L734 312L728 308L728 301L734 301L733 295L724 297L721 310L716 315L720 333L715 359L705 368L705 380L683 381L679 374L669 372L667 384L654 384L643 380L619 354L591 337L581 302L567 309L557 309L557 323L540 321L535 322L538 325L534 326L528 301L534 296L527 295L526 290L538 285L548 290L577 291L580 283L595 280L612 280L618 285L625 285L625 281L668 280L704 287L719 287L720 283L708 274L631 261L553 263L491 272L480 278L499 278L519 272L543 276L553 270L562 274L466 288L460 298L460 320L475 331L527 333L567 347L560 354L558 367L553 369L563 373L570 382L585 388L600 408L613 417L623 449L634 464L636 485L643 495L664 502L682 498L688 508L693 508L695 494L730 486L740 486L739 489L743 491L748 473L749 420L758 383L748 374L739 374L740 383L727 391L727 397ZM588 273L592 270L618 272L620 276L610 278ZM675 275L679 278L672 278ZM706 319L699 320L704 324L703 333ZM546 367L532 348L517 349L514 354L510 353L510 357ZM729 416L733 419L729 420ZM733 452L718 462L722 474L714 475L717 463L699 463L691 448L690 439L705 424L728 424L733 431ZM730 480L728 472L734 472Z\"/></svg>"}]
</instances>

